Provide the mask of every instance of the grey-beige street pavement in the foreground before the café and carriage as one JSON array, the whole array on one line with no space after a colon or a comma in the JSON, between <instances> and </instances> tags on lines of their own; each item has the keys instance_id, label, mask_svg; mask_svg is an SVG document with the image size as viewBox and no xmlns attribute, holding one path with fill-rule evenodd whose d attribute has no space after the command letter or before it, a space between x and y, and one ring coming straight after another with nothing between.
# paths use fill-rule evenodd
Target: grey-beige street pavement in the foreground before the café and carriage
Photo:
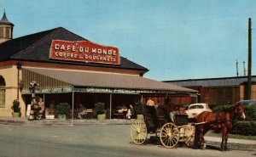
<instances>
[{"instance_id":1,"label":"grey-beige street pavement in the foreground before the caf\u00e9 and carriage","mask_svg":"<svg viewBox=\"0 0 256 157\"><path fill-rule=\"evenodd\" d=\"M252 156L253 151L214 149L166 149L150 140L131 143L130 125L108 125L107 122L78 126L10 126L0 125L0 157L189 157Z\"/></svg>"}]
</instances>

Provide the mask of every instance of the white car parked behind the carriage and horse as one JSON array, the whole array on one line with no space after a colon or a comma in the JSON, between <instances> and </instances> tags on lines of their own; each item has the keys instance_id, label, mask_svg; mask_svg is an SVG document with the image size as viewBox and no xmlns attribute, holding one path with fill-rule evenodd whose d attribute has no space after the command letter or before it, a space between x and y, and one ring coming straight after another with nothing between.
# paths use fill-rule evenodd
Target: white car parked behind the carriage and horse
<instances>
[{"instance_id":1,"label":"white car parked behind the carriage and horse","mask_svg":"<svg viewBox=\"0 0 256 157\"><path fill-rule=\"evenodd\" d=\"M194 118L204 111L212 112L212 109L209 108L208 104L204 103L190 104L188 110L186 110L186 114L189 115L189 118Z\"/></svg>"}]
</instances>

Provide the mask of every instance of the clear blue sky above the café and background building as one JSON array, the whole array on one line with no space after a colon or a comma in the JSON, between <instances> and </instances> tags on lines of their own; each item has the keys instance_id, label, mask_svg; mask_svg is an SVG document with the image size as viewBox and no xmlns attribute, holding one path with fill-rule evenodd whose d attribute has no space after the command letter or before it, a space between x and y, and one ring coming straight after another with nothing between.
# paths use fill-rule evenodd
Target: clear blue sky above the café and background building
<instances>
[{"instance_id":1,"label":"clear blue sky above the caf\u00e9 and background building","mask_svg":"<svg viewBox=\"0 0 256 157\"><path fill-rule=\"evenodd\" d=\"M236 76L236 59L244 76L248 18L256 28L255 0L0 0L4 9L14 38L61 26L118 47L158 81Z\"/></svg>"}]
</instances>

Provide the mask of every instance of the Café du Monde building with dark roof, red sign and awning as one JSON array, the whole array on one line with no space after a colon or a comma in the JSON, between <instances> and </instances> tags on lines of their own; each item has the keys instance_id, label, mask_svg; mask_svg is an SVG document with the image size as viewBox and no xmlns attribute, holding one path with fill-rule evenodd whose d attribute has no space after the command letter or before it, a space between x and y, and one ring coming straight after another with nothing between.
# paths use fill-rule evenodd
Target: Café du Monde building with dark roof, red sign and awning
<instances>
[{"instance_id":1,"label":"Caf\u00e9 du Monde building with dark roof, red sign and awning","mask_svg":"<svg viewBox=\"0 0 256 157\"><path fill-rule=\"evenodd\" d=\"M0 20L0 116L12 116L14 99L20 101L21 116L36 96L45 107L68 103L94 109L105 103L108 118L118 106L129 106L148 97L196 101L197 91L143 77L148 69L120 56L119 48L91 42L65 28L13 39L14 24L6 14Z\"/></svg>"}]
</instances>

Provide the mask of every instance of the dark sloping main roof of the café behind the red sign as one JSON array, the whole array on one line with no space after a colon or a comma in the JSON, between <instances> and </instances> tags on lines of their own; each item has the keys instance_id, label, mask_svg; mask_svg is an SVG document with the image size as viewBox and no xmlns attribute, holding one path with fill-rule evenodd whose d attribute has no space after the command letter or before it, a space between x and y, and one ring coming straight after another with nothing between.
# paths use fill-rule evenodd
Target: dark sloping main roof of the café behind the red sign
<instances>
[{"instance_id":1,"label":"dark sloping main roof of the caf\u00e9 behind the red sign","mask_svg":"<svg viewBox=\"0 0 256 157\"><path fill-rule=\"evenodd\" d=\"M120 58L119 65L94 64L49 59L49 48L52 40L88 41L82 36L78 36L71 31L67 31L62 27L58 27L52 30L42 31L28 36L21 36L8 42L3 42L0 44L0 61L15 59L49 62L55 64L77 64L131 70L144 70L145 72L148 71L148 69L142 65L136 64L131 60L125 59L123 57Z\"/></svg>"}]
</instances>

